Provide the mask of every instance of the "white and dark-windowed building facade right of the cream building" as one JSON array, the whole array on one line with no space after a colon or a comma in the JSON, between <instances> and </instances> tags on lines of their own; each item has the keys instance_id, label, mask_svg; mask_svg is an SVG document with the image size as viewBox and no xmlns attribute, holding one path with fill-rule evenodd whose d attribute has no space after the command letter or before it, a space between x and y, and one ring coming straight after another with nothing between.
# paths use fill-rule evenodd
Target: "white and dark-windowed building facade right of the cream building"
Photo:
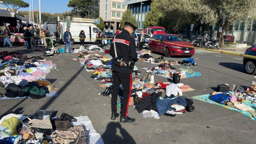
<instances>
[{"instance_id":1,"label":"white and dark-windowed building facade right of the cream building","mask_svg":"<svg viewBox=\"0 0 256 144\"><path fill-rule=\"evenodd\" d=\"M150 11L151 0L125 0L123 5L127 5L127 8L132 11L136 18L138 29L144 29L143 22Z\"/></svg>"}]
</instances>

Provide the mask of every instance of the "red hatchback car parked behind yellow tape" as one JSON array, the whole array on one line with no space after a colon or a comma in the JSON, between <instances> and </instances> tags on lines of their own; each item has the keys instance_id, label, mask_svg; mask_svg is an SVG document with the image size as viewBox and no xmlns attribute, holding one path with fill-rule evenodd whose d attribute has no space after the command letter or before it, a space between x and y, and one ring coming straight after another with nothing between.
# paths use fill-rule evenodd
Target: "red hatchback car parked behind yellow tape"
<instances>
[{"instance_id":1,"label":"red hatchback car parked behind yellow tape","mask_svg":"<svg viewBox=\"0 0 256 144\"><path fill-rule=\"evenodd\" d=\"M165 57L195 54L193 45L176 34L156 34L148 40L148 50L164 53Z\"/></svg>"}]
</instances>

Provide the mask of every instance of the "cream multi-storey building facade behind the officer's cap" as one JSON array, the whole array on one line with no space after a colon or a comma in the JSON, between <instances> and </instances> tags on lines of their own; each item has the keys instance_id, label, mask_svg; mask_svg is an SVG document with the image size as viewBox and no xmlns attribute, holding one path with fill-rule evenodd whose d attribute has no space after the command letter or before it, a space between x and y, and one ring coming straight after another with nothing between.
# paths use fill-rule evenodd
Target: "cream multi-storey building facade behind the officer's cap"
<instances>
[{"instance_id":1,"label":"cream multi-storey building facade behind the officer's cap","mask_svg":"<svg viewBox=\"0 0 256 144\"><path fill-rule=\"evenodd\" d=\"M120 28L120 20L127 6L123 5L124 0L100 0L99 16L106 24L107 31L115 32Z\"/></svg>"}]
</instances>

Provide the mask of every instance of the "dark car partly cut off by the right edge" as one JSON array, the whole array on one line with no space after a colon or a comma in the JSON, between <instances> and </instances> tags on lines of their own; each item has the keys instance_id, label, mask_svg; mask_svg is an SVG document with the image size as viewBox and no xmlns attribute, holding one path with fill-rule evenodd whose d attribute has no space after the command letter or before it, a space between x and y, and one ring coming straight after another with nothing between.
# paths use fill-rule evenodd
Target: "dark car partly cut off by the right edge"
<instances>
[{"instance_id":1,"label":"dark car partly cut off by the right edge","mask_svg":"<svg viewBox=\"0 0 256 144\"><path fill-rule=\"evenodd\" d=\"M245 53L250 56L256 56L256 43L253 46L245 50ZM252 58L245 58L243 60L245 72L250 75L256 74L256 60Z\"/></svg>"}]
</instances>

